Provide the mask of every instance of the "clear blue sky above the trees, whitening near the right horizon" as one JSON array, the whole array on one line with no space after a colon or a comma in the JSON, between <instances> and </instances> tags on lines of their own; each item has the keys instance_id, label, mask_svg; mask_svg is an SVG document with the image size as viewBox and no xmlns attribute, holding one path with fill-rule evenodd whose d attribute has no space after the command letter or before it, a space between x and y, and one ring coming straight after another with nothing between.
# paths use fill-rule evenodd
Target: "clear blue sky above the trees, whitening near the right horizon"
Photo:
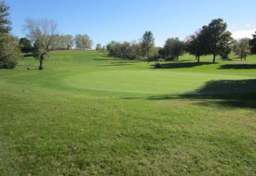
<instances>
[{"instance_id":1,"label":"clear blue sky above the trees, whitening near the right horizon","mask_svg":"<svg viewBox=\"0 0 256 176\"><path fill-rule=\"evenodd\" d=\"M181 40L223 19L233 37L256 31L256 0L6 0L12 33L26 36L25 19L53 19L61 34L88 34L94 46L111 41L138 41L152 31L155 45Z\"/></svg>"}]
</instances>

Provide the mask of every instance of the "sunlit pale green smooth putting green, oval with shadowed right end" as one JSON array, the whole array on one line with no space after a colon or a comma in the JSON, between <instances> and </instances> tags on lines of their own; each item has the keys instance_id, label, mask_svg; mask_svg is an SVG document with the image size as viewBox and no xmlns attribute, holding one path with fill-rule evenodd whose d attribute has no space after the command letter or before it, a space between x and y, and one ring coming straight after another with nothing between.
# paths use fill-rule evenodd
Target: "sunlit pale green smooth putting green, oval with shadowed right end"
<instances>
[{"instance_id":1,"label":"sunlit pale green smooth putting green, oval with shadowed right end","mask_svg":"<svg viewBox=\"0 0 256 176\"><path fill-rule=\"evenodd\" d=\"M216 80L243 80L249 77L220 74L106 70L69 77L64 82L72 87L139 94L184 94L195 91L206 82Z\"/></svg>"}]
</instances>

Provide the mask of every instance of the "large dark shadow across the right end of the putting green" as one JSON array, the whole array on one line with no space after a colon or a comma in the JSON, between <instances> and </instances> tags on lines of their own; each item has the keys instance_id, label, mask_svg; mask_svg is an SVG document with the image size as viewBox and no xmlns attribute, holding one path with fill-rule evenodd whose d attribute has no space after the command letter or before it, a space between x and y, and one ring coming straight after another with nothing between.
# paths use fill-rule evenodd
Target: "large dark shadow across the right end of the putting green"
<instances>
[{"instance_id":1,"label":"large dark shadow across the right end of the putting green","mask_svg":"<svg viewBox=\"0 0 256 176\"><path fill-rule=\"evenodd\" d=\"M208 99L199 103L199 105L208 106L217 104L228 107L256 108L256 80L221 80L207 82L204 86L194 92L159 96L150 96L149 100L167 100L167 99Z\"/></svg>"}]
</instances>

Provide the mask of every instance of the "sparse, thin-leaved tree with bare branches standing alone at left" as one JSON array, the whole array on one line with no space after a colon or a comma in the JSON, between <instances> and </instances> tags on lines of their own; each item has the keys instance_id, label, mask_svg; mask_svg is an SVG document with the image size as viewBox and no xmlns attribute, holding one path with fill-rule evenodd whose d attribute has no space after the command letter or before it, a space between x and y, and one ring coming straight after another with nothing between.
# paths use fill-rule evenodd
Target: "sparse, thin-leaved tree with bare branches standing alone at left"
<instances>
[{"instance_id":1,"label":"sparse, thin-leaved tree with bare branches standing alone at left","mask_svg":"<svg viewBox=\"0 0 256 176\"><path fill-rule=\"evenodd\" d=\"M34 57L39 59L39 69L44 69L43 61L57 38L57 23L49 19L26 19L25 30L34 43Z\"/></svg>"}]
</instances>

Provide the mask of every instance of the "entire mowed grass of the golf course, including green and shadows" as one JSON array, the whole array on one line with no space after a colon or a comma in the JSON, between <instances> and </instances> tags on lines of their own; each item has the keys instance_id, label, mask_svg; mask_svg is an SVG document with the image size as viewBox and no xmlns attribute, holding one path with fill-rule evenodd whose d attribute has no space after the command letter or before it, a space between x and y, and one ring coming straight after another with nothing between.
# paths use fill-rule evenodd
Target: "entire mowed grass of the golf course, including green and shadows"
<instances>
[{"instance_id":1,"label":"entire mowed grass of the golf course, including green and shadows","mask_svg":"<svg viewBox=\"0 0 256 176\"><path fill-rule=\"evenodd\" d=\"M25 57L0 70L0 175L256 175L256 57L233 60Z\"/></svg>"}]
</instances>

